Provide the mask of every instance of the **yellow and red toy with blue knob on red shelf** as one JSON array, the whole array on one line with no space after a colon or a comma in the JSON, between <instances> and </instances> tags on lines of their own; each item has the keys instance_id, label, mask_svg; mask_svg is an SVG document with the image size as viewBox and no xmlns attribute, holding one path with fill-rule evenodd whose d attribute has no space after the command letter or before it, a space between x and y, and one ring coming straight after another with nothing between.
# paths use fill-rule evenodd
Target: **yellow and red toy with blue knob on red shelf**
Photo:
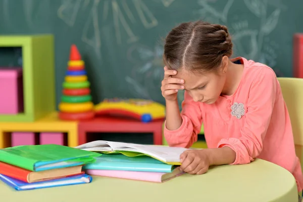
<instances>
[{"instance_id":1,"label":"yellow and red toy with blue knob on red shelf","mask_svg":"<svg viewBox=\"0 0 303 202\"><path fill-rule=\"evenodd\" d=\"M144 99L105 99L95 105L96 115L118 115L151 122L165 118L165 106Z\"/></svg>"}]
</instances>

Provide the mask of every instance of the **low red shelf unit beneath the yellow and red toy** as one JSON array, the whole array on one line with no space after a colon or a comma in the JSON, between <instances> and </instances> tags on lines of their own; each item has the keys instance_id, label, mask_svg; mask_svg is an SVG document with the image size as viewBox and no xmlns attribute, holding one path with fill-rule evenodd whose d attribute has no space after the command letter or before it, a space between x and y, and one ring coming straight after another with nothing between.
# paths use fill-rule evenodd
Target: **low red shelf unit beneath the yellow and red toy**
<instances>
[{"instance_id":1,"label":"low red shelf unit beneath the yellow and red toy","mask_svg":"<svg viewBox=\"0 0 303 202\"><path fill-rule=\"evenodd\" d=\"M81 120L78 125L79 145L86 143L87 132L100 133L153 133L155 145L162 145L162 125L164 120L143 123L138 120L118 117L96 117Z\"/></svg>"}]
</instances>

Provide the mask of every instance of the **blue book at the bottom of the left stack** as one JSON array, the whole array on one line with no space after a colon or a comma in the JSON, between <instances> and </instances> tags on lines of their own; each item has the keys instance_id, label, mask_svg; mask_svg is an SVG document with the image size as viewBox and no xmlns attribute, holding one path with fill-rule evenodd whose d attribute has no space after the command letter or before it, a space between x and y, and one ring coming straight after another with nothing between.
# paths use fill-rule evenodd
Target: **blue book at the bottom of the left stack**
<instances>
[{"instance_id":1,"label":"blue book at the bottom of the left stack","mask_svg":"<svg viewBox=\"0 0 303 202\"><path fill-rule=\"evenodd\" d=\"M13 187L14 189L21 190L30 190L30 189L40 189L48 187L57 187L57 186L66 186L73 184L85 184L92 181L91 176L87 174L75 175L71 177L59 178L54 180L39 181L33 183L23 182L6 175L0 174L0 180L5 182L7 185Z\"/></svg>"}]
</instances>

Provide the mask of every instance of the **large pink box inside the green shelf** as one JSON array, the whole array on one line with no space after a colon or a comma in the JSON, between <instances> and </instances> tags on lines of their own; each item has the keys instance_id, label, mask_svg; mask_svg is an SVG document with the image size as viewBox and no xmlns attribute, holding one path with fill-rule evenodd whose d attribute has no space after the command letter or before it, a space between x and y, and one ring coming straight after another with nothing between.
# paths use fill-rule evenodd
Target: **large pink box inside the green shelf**
<instances>
[{"instance_id":1,"label":"large pink box inside the green shelf","mask_svg":"<svg viewBox=\"0 0 303 202\"><path fill-rule=\"evenodd\" d=\"M22 68L0 67L0 114L23 112Z\"/></svg>"}]
</instances>

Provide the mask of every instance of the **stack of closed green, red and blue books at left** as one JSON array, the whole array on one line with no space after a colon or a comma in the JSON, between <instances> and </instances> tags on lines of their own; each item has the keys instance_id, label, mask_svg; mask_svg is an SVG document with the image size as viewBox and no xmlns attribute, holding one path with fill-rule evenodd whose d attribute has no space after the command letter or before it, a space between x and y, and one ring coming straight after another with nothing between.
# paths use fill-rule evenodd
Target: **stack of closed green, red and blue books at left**
<instances>
[{"instance_id":1,"label":"stack of closed green, red and blue books at left","mask_svg":"<svg viewBox=\"0 0 303 202\"><path fill-rule=\"evenodd\" d=\"M0 180L16 190L90 183L82 167L99 155L56 144L0 149Z\"/></svg>"}]
</instances>

